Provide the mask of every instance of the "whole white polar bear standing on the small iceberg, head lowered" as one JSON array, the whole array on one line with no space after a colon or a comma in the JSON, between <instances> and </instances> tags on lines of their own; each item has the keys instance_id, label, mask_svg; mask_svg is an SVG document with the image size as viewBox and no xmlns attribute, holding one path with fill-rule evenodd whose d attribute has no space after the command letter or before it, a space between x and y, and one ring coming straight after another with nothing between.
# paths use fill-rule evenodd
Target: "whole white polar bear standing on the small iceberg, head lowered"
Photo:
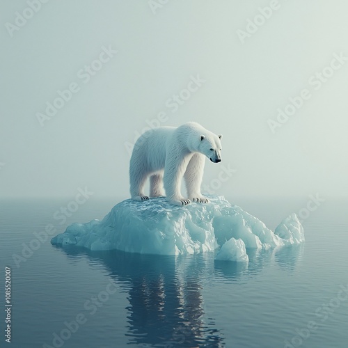
<instances>
[{"instance_id":1,"label":"whole white polar bear standing on the small iceberg, head lowered","mask_svg":"<svg viewBox=\"0 0 348 348\"><path fill-rule=\"evenodd\" d=\"M129 164L132 199L149 199L143 188L150 176L150 197L166 196L173 205L207 203L200 193L205 157L214 163L221 161L221 138L196 122L143 133L134 145ZM182 177L188 198L180 192Z\"/></svg>"}]
</instances>

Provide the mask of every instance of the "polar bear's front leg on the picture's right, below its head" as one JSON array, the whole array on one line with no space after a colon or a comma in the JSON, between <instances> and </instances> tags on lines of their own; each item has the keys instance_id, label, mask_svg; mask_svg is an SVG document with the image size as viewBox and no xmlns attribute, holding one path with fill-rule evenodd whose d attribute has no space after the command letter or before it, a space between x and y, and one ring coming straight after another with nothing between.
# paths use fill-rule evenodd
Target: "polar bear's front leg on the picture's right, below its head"
<instances>
[{"instance_id":1,"label":"polar bear's front leg on the picture's right, below its head","mask_svg":"<svg viewBox=\"0 0 348 348\"><path fill-rule=\"evenodd\" d=\"M202 193L200 193L204 164L205 156L200 153L195 153L189 161L186 172L184 173L185 184L189 198L193 202L197 203L209 202L208 198L205 198L204 196L202 196Z\"/></svg>"}]
</instances>

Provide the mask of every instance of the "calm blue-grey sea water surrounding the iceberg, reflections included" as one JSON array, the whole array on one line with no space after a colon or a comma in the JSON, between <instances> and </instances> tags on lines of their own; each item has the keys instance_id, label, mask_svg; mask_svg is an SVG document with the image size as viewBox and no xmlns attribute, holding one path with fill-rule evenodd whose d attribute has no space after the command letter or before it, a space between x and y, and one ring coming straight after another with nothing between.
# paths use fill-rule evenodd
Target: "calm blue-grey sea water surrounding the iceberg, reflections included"
<instances>
[{"instance_id":1,"label":"calm blue-grey sea water surrounding the iceberg, reflections included","mask_svg":"<svg viewBox=\"0 0 348 348\"><path fill-rule=\"evenodd\" d=\"M272 229L306 206L230 201ZM72 222L102 219L118 200L90 200L60 224L53 214L68 202L1 202L1 303L4 267L12 269L8 347L348 347L347 202L312 212L303 246L248 251L248 267L214 262L211 254L57 248L49 239L17 267L13 254L22 254L33 232L52 223L57 234ZM54 341L57 335L63 340ZM3 334L0 342L7 347Z\"/></svg>"}]
</instances>

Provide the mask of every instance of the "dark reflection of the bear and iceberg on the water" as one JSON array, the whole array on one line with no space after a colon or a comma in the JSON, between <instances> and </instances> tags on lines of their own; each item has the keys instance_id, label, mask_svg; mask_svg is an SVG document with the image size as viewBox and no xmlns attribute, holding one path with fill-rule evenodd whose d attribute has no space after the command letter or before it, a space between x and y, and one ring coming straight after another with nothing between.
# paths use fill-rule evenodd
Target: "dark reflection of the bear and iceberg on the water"
<instances>
[{"instance_id":1,"label":"dark reflection of the bear and iceberg on the water","mask_svg":"<svg viewBox=\"0 0 348 348\"><path fill-rule=\"evenodd\" d=\"M87 257L102 265L127 291L129 344L139 347L225 347L223 333L207 318L202 289L214 278L247 280L275 258L292 270L303 248L248 251L249 264L214 262L214 254L139 255L120 251L88 251L65 246L73 260Z\"/></svg>"}]
</instances>

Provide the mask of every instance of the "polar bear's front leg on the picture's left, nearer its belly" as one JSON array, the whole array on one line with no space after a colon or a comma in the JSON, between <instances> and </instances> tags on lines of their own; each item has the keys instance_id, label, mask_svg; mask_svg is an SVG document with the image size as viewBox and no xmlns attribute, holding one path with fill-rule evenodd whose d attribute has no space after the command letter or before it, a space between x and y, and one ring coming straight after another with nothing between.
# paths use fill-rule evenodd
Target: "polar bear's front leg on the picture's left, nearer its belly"
<instances>
[{"instance_id":1,"label":"polar bear's front leg on the picture's left, nearer its belly","mask_svg":"<svg viewBox=\"0 0 348 348\"><path fill-rule=\"evenodd\" d=\"M184 198L180 192L182 177L186 171L191 156L189 154L170 152L166 157L164 167L164 190L169 203L173 205L188 205L191 200Z\"/></svg>"}]
</instances>

